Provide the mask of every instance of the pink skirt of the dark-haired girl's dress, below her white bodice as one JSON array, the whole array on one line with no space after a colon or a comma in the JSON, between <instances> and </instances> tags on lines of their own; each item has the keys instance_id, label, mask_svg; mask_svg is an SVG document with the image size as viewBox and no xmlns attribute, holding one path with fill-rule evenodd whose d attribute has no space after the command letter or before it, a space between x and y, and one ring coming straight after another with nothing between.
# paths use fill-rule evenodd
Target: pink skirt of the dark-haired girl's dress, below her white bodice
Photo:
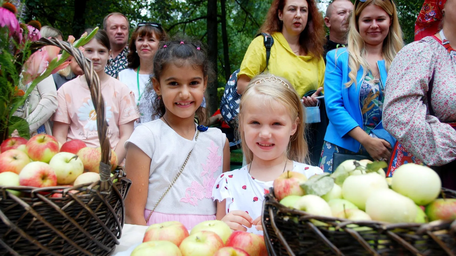
<instances>
[{"instance_id":1,"label":"pink skirt of the dark-haired girl's dress, below her white bodice","mask_svg":"<svg viewBox=\"0 0 456 256\"><path fill-rule=\"evenodd\" d=\"M144 219L147 219L149 216L150 210L144 210ZM147 221L146 225L150 226L156 223L162 223L165 221L179 221L181 222L187 230L192 230L192 228L206 220L215 220L215 215L178 215L178 214L164 214L160 212L154 211L152 215L150 215L149 221Z\"/></svg>"}]
</instances>

